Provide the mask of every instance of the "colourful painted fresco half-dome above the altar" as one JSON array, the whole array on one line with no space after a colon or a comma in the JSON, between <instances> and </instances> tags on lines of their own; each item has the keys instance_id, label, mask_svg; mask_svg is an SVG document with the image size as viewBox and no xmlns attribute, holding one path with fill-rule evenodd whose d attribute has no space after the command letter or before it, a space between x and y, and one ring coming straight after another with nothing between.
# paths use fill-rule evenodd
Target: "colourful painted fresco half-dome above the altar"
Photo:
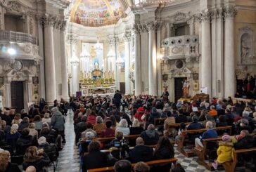
<instances>
[{"instance_id":1,"label":"colourful painted fresco half-dome above the altar","mask_svg":"<svg viewBox=\"0 0 256 172\"><path fill-rule=\"evenodd\" d=\"M119 0L71 0L70 21L89 27L113 25L124 17Z\"/></svg>"}]
</instances>

